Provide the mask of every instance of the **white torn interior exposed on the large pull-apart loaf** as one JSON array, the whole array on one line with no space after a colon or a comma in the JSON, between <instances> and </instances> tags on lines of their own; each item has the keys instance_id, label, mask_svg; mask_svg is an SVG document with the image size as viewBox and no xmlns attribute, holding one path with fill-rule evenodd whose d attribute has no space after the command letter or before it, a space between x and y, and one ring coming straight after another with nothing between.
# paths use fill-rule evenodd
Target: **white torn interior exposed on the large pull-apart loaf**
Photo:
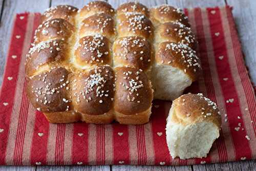
<instances>
[{"instance_id":1,"label":"white torn interior exposed on the large pull-apart loaf","mask_svg":"<svg viewBox=\"0 0 256 171\"><path fill-rule=\"evenodd\" d=\"M192 83L182 70L172 66L155 65L152 75L155 99L174 100Z\"/></svg>"}]
</instances>

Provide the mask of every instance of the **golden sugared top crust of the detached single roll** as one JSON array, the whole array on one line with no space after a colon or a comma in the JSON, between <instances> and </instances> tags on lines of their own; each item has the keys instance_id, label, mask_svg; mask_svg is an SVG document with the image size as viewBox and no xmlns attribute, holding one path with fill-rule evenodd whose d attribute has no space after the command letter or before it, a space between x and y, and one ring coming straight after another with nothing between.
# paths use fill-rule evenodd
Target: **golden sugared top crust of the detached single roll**
<instances>
[{"instance_id":1,"label":"golden sugared top crust of the detached single roll","mask_svg":"<svg viewBox=\"0 0 256 171\"><path fill-rule=\"evenodd\" d=\"M221 113L216 103L202 94L184 94L173 101L172 122L183 125L212 122L221 127Z\"/></svg>"}]
</instances>

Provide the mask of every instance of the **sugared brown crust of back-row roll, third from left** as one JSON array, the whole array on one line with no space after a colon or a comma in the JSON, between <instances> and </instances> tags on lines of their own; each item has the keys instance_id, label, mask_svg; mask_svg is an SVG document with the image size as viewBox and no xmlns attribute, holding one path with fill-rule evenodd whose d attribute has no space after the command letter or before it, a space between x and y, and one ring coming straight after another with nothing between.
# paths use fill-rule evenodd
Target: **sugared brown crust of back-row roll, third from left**
<instances>
[{"instance_id":1,"label":"sugared brown crust of back-row roll, third from left","mask_svg":"<svg viewBox=\"0 0 256 171\"><path fill-rule=\"evenodd\" d=\"M136 12L136 13L141 13L147 17L150 14L147 7L138 2L129 2L129 3L121 4L117 8L116 12L117 12L117 15L124 14L126 12Z\"/></svg>"}]
</instances>

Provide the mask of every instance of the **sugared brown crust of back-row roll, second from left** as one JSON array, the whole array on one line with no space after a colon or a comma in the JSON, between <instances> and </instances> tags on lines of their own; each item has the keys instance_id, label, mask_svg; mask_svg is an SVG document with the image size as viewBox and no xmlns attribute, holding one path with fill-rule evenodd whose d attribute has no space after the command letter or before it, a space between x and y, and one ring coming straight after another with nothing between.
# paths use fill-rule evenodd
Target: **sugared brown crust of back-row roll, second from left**
<instances>
[{"instance_id":1,"label":"sugared brown crust of back-row roll, second from left","mask_svg":"<svg viewBox=\"0 0 256 171\"><path fill-rule=\"evenodd\" d=\"M81 10L79 10L79 18L84 19L97 13L104 13L114 16L115 9L113 9L112 6L106 2L93 1L88 3Z\"/></svg>"}]
</instances>

